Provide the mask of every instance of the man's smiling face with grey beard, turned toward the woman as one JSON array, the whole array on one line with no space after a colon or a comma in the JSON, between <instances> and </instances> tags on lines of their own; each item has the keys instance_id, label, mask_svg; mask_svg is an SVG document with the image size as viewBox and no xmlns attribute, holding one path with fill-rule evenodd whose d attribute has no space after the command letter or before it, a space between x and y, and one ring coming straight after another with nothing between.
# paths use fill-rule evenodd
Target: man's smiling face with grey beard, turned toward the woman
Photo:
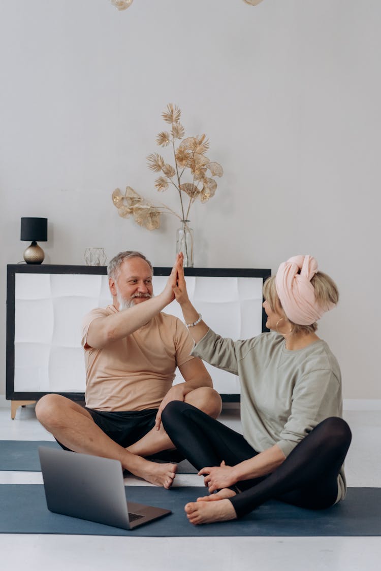
<instances>
[{"instance_id":1,"label":"man's smiling face with grey beard, turned toward the woman","mask_svg":"<svg viewBox=\"0 0 381 571\"><path fill-rule=\"evenodd\" d=\"M149 264L142 258L129 258L120 268L119 277L110 279L114 305L122 311L153 296L152 274Z\"/></svg>"}]
</instances>

